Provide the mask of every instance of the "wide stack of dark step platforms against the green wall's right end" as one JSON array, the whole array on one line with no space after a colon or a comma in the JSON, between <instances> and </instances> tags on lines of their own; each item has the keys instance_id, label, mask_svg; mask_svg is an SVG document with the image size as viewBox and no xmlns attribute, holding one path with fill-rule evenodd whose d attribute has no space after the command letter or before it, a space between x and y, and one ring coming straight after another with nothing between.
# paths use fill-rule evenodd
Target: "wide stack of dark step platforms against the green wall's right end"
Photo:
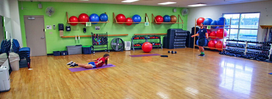
<instances>
[{"instance_id":1,"label":"wide stack of dark step platforms against the green wall's right end","mask_svg":"<svg viewBox=\"0 0 272 99\"><path fill-rule=\"evenodd\" d=\"M168 29L165 48L167 49L186 48L185 47L186 36L187 36L186 30Z\"/></svg>"}]
</instances>

